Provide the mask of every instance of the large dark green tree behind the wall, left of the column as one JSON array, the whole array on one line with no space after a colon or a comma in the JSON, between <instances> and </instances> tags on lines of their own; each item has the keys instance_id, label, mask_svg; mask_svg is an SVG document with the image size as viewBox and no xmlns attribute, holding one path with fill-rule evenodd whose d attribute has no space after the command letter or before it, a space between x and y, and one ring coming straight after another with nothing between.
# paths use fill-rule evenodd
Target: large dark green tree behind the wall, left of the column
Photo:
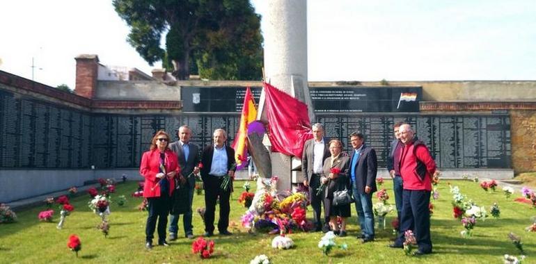
<instances>
[{"instance_id":1,"label":"large dark green tree behind the wall, left of the column","mask_svg":"<svg viewBox=\"0 0 536 264\"><path fill-rule=\"evenodd\" d=\"M150 65L162 60L177 79L260 80L260 15L249 0L113 0L127 41ZM165 33L166 47L160 47Z\"/></svg>"}]
</instances>

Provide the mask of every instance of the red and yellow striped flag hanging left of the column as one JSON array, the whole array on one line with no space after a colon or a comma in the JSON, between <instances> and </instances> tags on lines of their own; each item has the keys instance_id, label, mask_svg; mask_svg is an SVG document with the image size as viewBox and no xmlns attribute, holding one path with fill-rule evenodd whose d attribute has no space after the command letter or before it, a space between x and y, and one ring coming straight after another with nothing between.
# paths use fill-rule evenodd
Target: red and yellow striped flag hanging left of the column
<instances>
[{"instance_id":1,"label":"red and yellow striped flag hanging left of the column","mask_svg":"<svg viewBox=\"0 0 536 264\"><path fill-rule=\"evenodd\" d=\"M235 149L235 161L237 169L244 167L244 162L248 155L248 125L257 119L257 109L255 109L255 100L251 90L246 88L246 96L244 97L244 106L242 106L242 115L240 116L240 127L235 136L235 141L232 142L232 148Z\"/></svg>"}]
</instances>

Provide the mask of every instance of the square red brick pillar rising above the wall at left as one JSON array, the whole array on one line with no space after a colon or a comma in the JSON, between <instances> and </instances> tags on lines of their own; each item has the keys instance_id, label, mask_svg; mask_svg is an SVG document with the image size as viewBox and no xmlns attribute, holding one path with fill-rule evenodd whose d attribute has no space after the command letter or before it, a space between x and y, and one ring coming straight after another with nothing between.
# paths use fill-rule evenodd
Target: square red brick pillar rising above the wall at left
<instances>
[{"instance_id":1,"label":"square red brick pillar rising above the wall at left","mask_svg":"<svg viewBox=\"0 0 536 264\"><path fill-rule=\"evenodd\" d=\"M82 54L74 60L77 61L77 80L74 93L81 97L93 99L95 90L97 90L99 57L93 54Z\"/></svg>"}]
</instances>

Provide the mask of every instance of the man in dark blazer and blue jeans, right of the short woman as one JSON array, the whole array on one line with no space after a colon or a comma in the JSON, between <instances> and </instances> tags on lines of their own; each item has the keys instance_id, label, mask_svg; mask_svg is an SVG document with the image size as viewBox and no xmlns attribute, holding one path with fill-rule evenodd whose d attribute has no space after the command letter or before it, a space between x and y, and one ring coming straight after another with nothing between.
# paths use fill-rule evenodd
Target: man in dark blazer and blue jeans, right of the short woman
<instances>
[{"instance_id":1,"label":"man in dark blazer and blue jeans, right of the short woman","mask_svg":"<svg viewBox=\"0 0 536 264\"><path fill-rule=\"evenodd\" d=\"M376 174L378 161L376 151L364 144L363 134L350 134L350 142L354 150L350 158L350 178L352 192L356 200L356 211L361 226L361 241L374 241L374 213L372 212L372 193L377 191Z\"/></svg>"}]
</instances>

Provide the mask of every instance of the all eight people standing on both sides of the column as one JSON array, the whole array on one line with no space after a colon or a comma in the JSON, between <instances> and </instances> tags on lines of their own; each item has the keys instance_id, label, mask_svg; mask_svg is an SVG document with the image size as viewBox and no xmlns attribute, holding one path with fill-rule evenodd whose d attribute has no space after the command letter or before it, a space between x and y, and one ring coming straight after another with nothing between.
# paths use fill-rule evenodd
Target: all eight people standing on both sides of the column
<instances>
[{"instance_id":1,"label":"all eight people standing on both sides of the column","mask_svg":"<svg viewBox=\"0 0 536 264\"><path fill-rule=\"evenodd\" d=\"M347 236L347 217L351 216L350 204L334 204L334 194L347 191L353 198L363 243L375 240L372 195L377 191L378 170L375 149L365 145L365 136L360 132L349 135L351 154L342 151L342 142L324 138L324 128L317 123L312 126L313 138L307 140L302 154L304 185L309 187L310 204L313 208L315 231L333 231L338 236ZM418 140L409 124L399 122L394 126L395 140L391 143L387 168L393 178L395 204L399 220L399 236L390 247L400 247L404 233L411 230L416 237L416 254L432 252L430 238L429 199L432 178L437 177L436 163L426 145ZM166 226L171 219L169 240L178 238L179 215L183 216L184 236L194 238L192 231L192 200L195 177L200 172L205 188L205 234L214 236L214 212L219 200L218 231L229 236L230 188L222 188L229 176L234 178L235 151L225 142L227 133L216 129L213 144L205 147L199 156L198 147L189 142L191 129L181 126L179 140L169 143L170 137L158 131L152 138L150 150L143 154L140 173L145 178L143 196L148 200L148 218L145 226L145 247L152 248L155 229L158 244L167 246ZM203 166L199 166L198 162ZM322 204L324 219L322 219ZM338 223L338 217L342 219ZM158 222L158 225L157 225Z\"/></svg>"}]
</instances>

